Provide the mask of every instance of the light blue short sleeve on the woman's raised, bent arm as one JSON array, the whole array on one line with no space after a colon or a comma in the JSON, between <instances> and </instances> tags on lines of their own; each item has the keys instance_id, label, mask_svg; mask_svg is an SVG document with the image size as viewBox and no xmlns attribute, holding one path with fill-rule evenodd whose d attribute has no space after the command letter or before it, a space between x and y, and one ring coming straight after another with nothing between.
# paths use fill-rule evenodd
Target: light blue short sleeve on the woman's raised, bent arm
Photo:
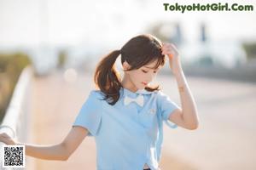
<instances>
[{"instance_id":1,"label":"light blue short sleeve on the woman's raised, bent arm","mask_svg":"<svg viewBox=\"0 0 256 170\"><path fill-rule=\"evenodd\" d=\"M176 128L177 124L171 122L168 118L173 113L173 111L179 107L161 91L159 91L157 95L157 103L162 121L165 121L166 125L169 127Z\"/></svg>"}]
</instances>

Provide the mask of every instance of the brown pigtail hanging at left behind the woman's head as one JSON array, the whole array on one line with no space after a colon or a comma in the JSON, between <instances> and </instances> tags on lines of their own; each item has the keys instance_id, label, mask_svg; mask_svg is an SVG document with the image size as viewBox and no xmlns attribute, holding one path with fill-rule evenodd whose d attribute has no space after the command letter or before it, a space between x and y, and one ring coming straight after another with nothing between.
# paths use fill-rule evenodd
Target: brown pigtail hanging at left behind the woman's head
<instances>
[{"instance_id":1,"label":"brown pigtail hanging at left behind the woman's head","mask_svg":"<svg viewBox=\"0 0 256 170\"><path fill-rule=\"evenodd\" d=\"M108 104L114 105L119 99L119 89L122 87L119 72L115 68L115 60L120 50L114 50L103 57L96 67L94 81L96 86L105 94Z\"/></svg>"}]
</instances>

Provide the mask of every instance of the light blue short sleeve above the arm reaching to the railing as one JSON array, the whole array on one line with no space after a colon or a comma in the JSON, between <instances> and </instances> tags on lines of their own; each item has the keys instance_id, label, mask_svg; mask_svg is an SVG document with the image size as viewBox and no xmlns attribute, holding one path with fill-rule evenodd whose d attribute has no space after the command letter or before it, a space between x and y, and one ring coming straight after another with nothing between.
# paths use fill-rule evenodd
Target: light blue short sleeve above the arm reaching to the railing
<instances>
[{"instance_id":1,"label":"light blue short sleeve above the arm reaching to the railing","mask_svg":"<svg viewBox=\"0 0 256 170\"><path fill-rule=\"evenodd\" d=\"M82 105L78 116L73 122L74 126L85 127L88 136L96 136L102 121L102 97L97 91L91 91L89 97Z\"/></svg>"}]
</instances>

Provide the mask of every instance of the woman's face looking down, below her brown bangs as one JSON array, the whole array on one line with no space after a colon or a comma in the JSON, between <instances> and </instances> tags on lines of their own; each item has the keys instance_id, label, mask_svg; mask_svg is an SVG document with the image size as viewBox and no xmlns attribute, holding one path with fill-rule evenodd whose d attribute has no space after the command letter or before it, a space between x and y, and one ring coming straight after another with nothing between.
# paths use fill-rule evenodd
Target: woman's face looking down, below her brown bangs
<instances>
[{"instance_id":1,"label":"woman's face looking down, below her brown bangs","mask_svg":"<svg viewBox=\"0 0 256 170\"><path fill-rule=\"evenodd\" d=\"M152 82L152 80L161 68L161 66L159 66L157 69L154 69L154 65L156 65L156 63L157 60L148 65L143 65L139 69L125 71L127 77L129 77L129 82L131 82L131 88L143 89L148 85L149 82ZM126 63L125 65L128 65L128 63ZM130 65L128 65L128 67L129 66Z\"/></svg>"}]
</instances>

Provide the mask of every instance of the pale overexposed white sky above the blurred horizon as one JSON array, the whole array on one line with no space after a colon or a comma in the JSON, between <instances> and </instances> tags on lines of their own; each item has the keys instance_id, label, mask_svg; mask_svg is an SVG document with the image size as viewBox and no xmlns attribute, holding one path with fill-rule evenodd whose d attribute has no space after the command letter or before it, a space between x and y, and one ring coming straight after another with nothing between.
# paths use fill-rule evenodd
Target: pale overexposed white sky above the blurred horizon
<instances>
[{"instance_id":1,"label":"pale overexposed white sky above the blurred horizon","mask_svg":"<svg viewBox=\"0 0 256 170\"><path fill-rule=\"evenodd\" d=\"M207 23L212 40L256 40L256 1L229 3L253 4L253 12L164 11L155 0L0 0L0 47L57 45L116 47L143 33L156 21L177 21L190 42L199 36L199 25ZM189 4L191 1L177 1ZM196 1L193 1L196 2ZM213 3L219 1L197 1Z\"/></svg>"}]
</instances>

